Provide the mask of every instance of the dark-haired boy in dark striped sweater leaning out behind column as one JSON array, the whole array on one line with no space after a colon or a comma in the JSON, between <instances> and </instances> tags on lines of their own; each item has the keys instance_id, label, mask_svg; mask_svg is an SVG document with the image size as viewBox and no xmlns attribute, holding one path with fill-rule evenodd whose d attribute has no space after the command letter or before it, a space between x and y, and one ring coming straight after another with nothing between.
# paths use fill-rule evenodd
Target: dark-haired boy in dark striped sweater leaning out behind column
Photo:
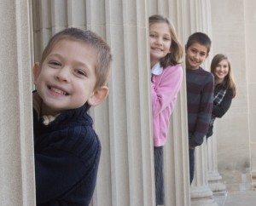
<instances>
[{"instance_id":1,"label":"dark-haired boy in dark striped sweater leaning out behind column","mask_svg":"<svg viewBox=\"0 0 256 206\"><path fill-rule=\"evenodd\" d=\"M190 184L195 171L195 146L202 144L212 113L214 79L210 72L201 68L201 63L207 59L210 49L211 39L201 32L192 34L185 47Z\"/></svg>"}]
</instances>

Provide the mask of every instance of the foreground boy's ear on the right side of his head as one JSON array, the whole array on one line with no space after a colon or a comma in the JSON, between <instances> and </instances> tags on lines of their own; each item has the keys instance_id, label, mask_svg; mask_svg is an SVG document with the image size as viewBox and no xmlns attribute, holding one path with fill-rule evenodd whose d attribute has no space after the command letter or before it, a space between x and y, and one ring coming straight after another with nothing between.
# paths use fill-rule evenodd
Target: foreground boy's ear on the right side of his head
<instances>
[{"instance_id":1,"label":"foreground boy's ear on the right side of his head","mask_svg":"<svg viewBox=\"0 0 256 206\"><path fill-rule=\"evenodd\" d=\"M98 106L102 101L106 100L108 97L108 87L102 86L100 89L97 89L93 92L90 98L87 100L90 106Z\"/></svg>"}]
</instances>

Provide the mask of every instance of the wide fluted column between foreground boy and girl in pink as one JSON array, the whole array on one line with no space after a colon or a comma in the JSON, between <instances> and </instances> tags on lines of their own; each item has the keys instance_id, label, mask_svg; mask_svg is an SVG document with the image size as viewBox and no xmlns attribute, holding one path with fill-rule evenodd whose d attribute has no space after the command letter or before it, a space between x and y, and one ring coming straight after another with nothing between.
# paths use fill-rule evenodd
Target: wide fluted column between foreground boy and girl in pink
<instances>
[{"instance_id":1,"label":"wide fluted column between foreground boy and girl in pink","mask_svg":"<svg viewBox=\"0 0 256 206\"><path fill-rule=\"evenodd\" d=\"M96 1L91 1L91 6ZM101 165L96 188L96 205L154 205L154 161L149 93L148 17L144 1L106 1L106 39L113 51L113 72L108 98L109 176ZM93 9L91 9L93 10ZM91 28L98 15L90 16ZM102 112L96 108L96 119ZM96 128L101 127L96 120ZM104 127L100 129L104 131ZM105 148L106 148L105 147ZM104 146L102 146L104 149ZM110 179L105 188L102 180ZM104 194L109 188L111 200ZM108 190L108 189L107 189ZM93 204L94 205L94 204Z\"/></svg>"}]
</instances>

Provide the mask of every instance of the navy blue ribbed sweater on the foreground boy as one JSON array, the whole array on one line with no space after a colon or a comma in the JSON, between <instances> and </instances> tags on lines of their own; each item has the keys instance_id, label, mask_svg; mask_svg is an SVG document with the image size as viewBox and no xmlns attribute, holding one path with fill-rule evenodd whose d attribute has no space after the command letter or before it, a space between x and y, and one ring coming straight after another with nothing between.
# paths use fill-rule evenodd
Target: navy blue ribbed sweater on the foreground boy
<instances>
[{"instance_id":1,"label":"navy blue ribbed sweater on the foreground boy","mask_svg":"<svg viewBox=\"0 0 256 206\"><path fill-rule=\"evenodd\" d=\"M61 113L44 125L33 110L38 206L85 206L96 186L101 155L89 106Z\"/></svg>"}]
</instances>

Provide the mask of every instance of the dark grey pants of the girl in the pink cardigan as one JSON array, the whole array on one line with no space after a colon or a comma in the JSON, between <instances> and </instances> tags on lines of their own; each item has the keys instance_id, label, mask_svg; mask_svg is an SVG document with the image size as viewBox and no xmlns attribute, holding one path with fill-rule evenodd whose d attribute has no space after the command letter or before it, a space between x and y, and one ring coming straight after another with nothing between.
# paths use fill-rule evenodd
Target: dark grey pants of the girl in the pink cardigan
<instances>
[{"instance_id":1,"label":"dark grey pants of the girl in the pink cardigan","mask_svg":"<svg viewBox=\"0 0 256 206\"><path fill-rule=\"evenodd\" d=\"M155 180L155 202L165 204L164 186L164 148L154 146L154 180Z\"/></svg>"}]
</instances>

